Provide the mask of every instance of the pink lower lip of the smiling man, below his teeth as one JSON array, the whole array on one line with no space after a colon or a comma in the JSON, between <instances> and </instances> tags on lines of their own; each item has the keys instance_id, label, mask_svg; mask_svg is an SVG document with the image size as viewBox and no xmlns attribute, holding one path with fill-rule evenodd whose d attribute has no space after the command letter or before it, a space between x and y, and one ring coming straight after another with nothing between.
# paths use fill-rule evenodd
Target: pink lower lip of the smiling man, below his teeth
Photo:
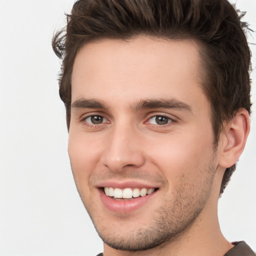
<instances>
[{"instance_id":1,"label":"pink lower lip of the smiling man, below his teeth","mask_svg":"<svg viewBox=\"0 0 256 256\"><path fill-rule=\"evenodd\" d=\"M158 190L157 190L158 191ZM145 196L139 196L130 200L115 200L100 189L100 199L104 206L117 213L131 213L132 211L142 207L148 200L150 200L157 191Z\"/></svg>"}]
</instances>

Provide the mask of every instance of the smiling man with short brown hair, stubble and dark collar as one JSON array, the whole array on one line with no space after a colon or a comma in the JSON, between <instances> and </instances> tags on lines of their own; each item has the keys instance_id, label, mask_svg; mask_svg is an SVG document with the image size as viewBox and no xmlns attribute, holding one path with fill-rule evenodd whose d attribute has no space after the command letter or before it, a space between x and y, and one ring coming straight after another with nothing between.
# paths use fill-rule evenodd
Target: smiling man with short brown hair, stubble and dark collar
<instances>
[{"instance_id":1,"label":"smiling man with short brown hair, stubble and dark collar","mask_svg":"<svg viewBox=\"0 0 256 256\"><path fill-rule=\"evenodd\" d=\"M104 256L255 255L217 217L249 133L245 26L227 0L80 0L53 38Z\"/></svg>"}]
</instances>

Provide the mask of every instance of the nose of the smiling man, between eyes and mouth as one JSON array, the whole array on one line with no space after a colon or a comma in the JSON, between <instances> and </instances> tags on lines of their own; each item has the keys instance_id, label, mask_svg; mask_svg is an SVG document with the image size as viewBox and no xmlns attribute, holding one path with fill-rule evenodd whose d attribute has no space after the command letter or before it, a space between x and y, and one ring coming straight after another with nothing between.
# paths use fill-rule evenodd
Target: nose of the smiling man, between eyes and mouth
<instances>
[{"instance_id":1,"label":"nose of the smiling man, between eyes and mouth","mask_svg":"<svg viewBox=\"0 0 256 256\"><path fill-rule=\"evenodd\" d=\"M108 137L103 162L112 171L121 171L126 166L139 167L144 163L141 138L131 127L114 127Z\"/></svg>"}]
</instances>

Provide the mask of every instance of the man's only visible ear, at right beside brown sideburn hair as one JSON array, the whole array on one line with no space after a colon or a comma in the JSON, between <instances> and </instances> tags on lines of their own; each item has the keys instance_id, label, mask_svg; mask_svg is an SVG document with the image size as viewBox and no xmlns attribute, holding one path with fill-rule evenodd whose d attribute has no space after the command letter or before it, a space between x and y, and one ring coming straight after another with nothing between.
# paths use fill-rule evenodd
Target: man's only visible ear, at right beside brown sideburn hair
<instances>
[{"instance_id":1,"label":"man's only visible ear, at right beside brown sideburn hair","mask_svg":"<svg viewBox=\"0 0 256 256\"><path fill-rule=\"evenodd\" d=\"M219 136L218 165L224 168L232 166L241 155L250 130L248 111L239 109L236 115L224 124Z\"/></svg>"}]
</instances>

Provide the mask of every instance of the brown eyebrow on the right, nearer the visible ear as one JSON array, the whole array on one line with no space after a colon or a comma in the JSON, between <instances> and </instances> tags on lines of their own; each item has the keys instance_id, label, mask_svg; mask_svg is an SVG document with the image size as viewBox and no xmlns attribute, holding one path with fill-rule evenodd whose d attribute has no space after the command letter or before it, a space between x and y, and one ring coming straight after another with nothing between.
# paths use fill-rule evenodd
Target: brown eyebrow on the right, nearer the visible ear
<instances>
[{"instance_id":1,"label":"brown eyebrow on the right, nearer the visible ear","mask_svg":"<svg viewBox=\"0 0 256 256\"><path fill-rule=\"evenodd\" d=\"M192 112L191 106L175 98L144 99L132 105L133 111L138 111L140 109L149 109L149 108L174 108L177 110Z\"/></svg>"}]
</instances>

